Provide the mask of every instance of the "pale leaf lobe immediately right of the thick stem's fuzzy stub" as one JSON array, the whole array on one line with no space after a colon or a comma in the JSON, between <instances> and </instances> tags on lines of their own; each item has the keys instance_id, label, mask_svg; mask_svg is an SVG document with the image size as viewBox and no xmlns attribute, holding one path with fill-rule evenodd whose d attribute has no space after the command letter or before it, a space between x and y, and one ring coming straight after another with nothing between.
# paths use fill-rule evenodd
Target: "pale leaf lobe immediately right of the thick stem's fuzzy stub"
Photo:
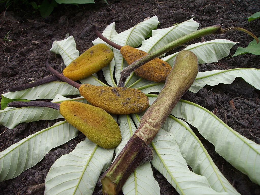
<instances>
[{"instance_id":1,"label":"pale leaf lobe immediately right of the thick stem's fuzzy stub","mask_svg":"<svg viewBox=\"0 0 260 195\"><path fill-rule=\"evenodd\" d=\"M228 195L227 192L216 192L204 176L189 170L172 133L160 129L151 145L154 155L152 165L163 174L179 194Z\"/></svg>"}]
</instances>

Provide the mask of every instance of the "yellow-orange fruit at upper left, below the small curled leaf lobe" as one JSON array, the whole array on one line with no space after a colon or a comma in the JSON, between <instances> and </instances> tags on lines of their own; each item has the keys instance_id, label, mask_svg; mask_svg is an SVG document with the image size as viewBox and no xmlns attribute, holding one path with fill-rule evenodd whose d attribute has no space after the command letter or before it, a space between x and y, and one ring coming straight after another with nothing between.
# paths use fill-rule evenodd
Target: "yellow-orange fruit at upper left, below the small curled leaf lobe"
<instances>
[{"instance_id":1,"label":"yellow-orange fruit at upper left, below the small curled leaf lobe","mask_svg":"<svg viewBox=\"0 0 260 195\"><path fill-rule=\"evenodd\" d=\"M63 75L73 81L86 78L111 62L114 53L103 43L90 47L63 70Z\"/></svg>"}]
</instances>

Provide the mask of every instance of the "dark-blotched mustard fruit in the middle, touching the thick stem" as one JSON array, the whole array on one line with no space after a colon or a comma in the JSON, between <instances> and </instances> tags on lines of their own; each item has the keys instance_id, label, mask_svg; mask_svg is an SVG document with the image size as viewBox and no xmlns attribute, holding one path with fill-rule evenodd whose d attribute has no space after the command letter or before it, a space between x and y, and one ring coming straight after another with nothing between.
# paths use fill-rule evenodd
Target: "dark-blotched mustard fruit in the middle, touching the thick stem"
<instances>
[{"instance_id":1,"label":"dark-blotched mustard fruit in the middle, touching the thick stem","mask_svg":"<svg viewBox=\"0 0 260 195\"><path fill-rule=\"evenodd\" d=\"M93 106L112 114L138 113L149 106L148 97L138 89L82 84L79 91Z\"/></svg>"}]
</instances>

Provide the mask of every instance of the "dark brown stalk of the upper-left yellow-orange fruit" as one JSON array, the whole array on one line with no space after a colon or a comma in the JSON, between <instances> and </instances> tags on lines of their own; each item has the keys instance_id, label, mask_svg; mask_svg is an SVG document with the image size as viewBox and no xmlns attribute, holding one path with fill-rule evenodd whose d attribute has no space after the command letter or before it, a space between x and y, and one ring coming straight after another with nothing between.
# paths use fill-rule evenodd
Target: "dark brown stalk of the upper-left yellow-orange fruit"
<instances>
[{"instance_id":1,"label":"dark brown stalk of the upper-left yellow-orange fruit","mask_svg":"<svg viewBox=\"0 0 260 195\"><path fill-rule=\"evenodd\" d=\"M30 83L26 83L26 84L22 84L22 85L18 85L18 86L14 86L14 87L10 87L9 91L10 92L16 92L16 91L21 91L24 89L29 89L32 87L36 87L45 83L49 83L49 82L53 82L53 81L57 81L60 80L58 77L56 77L55 75L51 75L48 77L45 77L43 79L34 81L34 82L30 82Z\"/></svg>"}]
</instances>

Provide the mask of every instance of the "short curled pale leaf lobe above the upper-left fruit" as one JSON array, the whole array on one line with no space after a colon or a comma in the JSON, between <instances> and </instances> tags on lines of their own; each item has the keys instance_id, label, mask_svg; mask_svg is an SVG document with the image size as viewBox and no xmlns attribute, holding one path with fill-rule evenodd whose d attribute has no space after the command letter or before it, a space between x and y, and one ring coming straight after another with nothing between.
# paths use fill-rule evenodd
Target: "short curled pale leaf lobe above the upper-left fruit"
<instances>
[{"instance_id":1,"label":"short curled pale leaf lobe above the upper-left fruit","mask_svg":"<svg viewBox=\"0 0 260 195\"><path fill-rule=\"evenodd\" d=\"M65 66L68 66L73 60L79 57L79 51L76 49L73 36L69 36L61 41L54 41L50 51L60 54Z\"/></svg>"}]
</instances>

